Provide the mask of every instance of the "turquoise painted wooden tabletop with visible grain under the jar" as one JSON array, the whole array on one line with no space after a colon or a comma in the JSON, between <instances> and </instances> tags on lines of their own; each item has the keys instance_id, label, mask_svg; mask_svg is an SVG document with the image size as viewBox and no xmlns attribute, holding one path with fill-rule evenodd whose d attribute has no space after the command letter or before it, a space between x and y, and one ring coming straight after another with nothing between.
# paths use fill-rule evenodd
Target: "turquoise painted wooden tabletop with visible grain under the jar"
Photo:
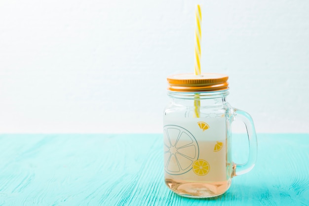
<instances>
[{"instance_id":1,"label":"turquoise painted wooden tabletop with visible grain under the jar","mask_svg":"<svg viewBox=\"0 0 309 206\"><path fill-rule=\"evenodd\" d=\"M258 134L255 168L212 199L169 191L162 145L161 134L2 134L0 206L309 205L309 134Z\"/></svg>"}]
</instances>

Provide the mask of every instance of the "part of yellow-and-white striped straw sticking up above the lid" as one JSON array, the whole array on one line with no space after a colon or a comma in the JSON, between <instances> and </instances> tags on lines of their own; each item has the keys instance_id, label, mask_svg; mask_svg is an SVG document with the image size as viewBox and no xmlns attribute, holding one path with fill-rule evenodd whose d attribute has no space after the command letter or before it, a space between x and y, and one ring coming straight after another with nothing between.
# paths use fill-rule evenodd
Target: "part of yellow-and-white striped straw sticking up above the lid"
<instances>
[{"instance_id":1,"label":"part of yellow-and-white striped straw sticking up above the lid","mask_svg":"<svg viewBox=\"0 0 309 206\"><path fill-rule=\"evenodd\" d=\"M195 8L195 44L194 44L194 74L200 75L200 43L202 40L201 23L202 23L202 12L200 5L197 4Z\"/></svg>"}]
</instances>

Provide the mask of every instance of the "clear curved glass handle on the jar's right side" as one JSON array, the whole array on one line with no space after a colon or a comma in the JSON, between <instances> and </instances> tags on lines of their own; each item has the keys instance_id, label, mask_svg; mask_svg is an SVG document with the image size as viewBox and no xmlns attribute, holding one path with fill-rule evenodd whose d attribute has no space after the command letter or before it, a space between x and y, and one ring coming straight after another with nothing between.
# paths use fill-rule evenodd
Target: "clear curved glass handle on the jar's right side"
<instances>
[{"instance_id":1,"label":"clear curved glass handle on the jar's right side","mask_svg":"<svg viewBox=\"0 0 309 206\"><path fill-rule=\"evenodd\" d=\"M233 163L233 176L241 175L249 172L255 165L257 159L258 143L257 136L254 128L254 123L251 116L245 112L238 109L234 110L234 118L232 121L240 120L246 125L248 140L249 140L249 157L245 164L235 164Z\"/></svg>"}]
</instances>

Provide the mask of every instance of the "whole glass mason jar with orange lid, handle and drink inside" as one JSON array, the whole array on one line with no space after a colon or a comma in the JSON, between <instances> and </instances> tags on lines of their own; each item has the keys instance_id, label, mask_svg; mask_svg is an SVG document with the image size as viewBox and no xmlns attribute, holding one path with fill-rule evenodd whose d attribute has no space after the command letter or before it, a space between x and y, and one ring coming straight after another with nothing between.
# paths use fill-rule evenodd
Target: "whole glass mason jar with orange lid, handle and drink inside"
<instances>
[{"instance_id":1,"label":"whole glass mason jar with orange lid, handle and drink inside","mask_svg":"<svg viewBox=\"0 0 309 206\"><path fill-rule=\"evenodd\" d=\"M250 171L256 162L257 138L250 115L227 102L228 76L174 75L167 78L170 102L164 110L164 178L169 189L191 198L225 193L232 177ZM232 162L231 124L246 125L249 157Z\"/></svg>"}]
</instances>

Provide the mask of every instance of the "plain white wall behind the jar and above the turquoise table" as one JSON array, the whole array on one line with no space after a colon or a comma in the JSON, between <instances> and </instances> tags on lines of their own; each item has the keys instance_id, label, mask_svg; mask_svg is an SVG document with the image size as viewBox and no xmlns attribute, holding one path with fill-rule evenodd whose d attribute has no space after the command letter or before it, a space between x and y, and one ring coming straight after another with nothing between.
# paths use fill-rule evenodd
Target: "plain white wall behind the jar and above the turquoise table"
<instances>
[{"instance_id":1,"label":"plain white wall behind the jar and above the turquoise table","mask_svg":"<svg viewBox=\"0 0 309 206\"><path fill-rule=\"evenodd\" d=\"M0 0L0 133L161 132L196 2ZM230 76L258 132L308 133L309 1L201 3L202 72Z\"/></svg>"}]
</instances>

